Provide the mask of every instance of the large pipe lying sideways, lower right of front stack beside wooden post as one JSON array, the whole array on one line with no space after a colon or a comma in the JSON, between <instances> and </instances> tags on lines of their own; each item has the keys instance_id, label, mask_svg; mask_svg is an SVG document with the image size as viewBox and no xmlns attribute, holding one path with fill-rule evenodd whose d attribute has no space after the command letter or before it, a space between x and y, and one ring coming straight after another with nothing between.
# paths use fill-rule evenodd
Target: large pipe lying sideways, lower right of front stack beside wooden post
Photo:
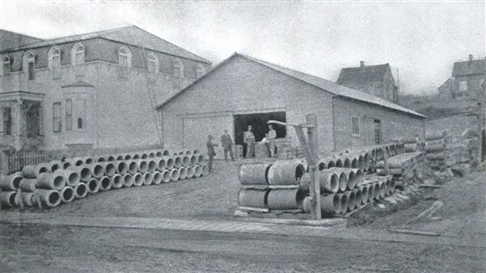
<instances>
[{"instance_id":1,"label":"large pipe lying sideways, lower right of front stack beside wooden post","mask_svg":"<svg viewBox=\"0 0 486 273\"><path fill-rule=\"evenodd\" d=\"M300 209L304 198L301 189L271 189L267 196L267 207L275 210Z\"/></svg>"}]
</instances>

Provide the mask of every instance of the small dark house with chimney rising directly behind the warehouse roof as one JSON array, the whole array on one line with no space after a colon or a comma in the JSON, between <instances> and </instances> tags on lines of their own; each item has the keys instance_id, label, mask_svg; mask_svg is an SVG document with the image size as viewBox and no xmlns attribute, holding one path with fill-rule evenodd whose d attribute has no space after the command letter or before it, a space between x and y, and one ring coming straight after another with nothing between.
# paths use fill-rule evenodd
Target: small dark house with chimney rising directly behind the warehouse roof
<instances>
[{"instance_id":1,"label":"small dark house with chimney rising directly behind the warehouse roof","mask_svg":"<svg viewBox=\"0 0 486 273\"><path fill-rule=\"evenodd\" d=\"M389 64L366 66L365 62L361 61L358 67L341 69L337 83L386 101L399 101L399 86L395 83Z\"/></svg>"}]
</instances>

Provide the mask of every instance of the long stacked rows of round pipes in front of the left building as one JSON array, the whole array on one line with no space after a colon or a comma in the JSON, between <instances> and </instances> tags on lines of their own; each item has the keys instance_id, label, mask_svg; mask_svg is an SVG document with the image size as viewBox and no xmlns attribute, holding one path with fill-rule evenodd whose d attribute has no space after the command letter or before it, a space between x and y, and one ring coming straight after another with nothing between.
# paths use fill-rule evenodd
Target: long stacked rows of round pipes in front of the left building
<instances>
[{"instance_id":1,"label":"long stacked rows of round pipes in front of the left building","mask_svg":"<svg viewBox=\"0 0 486 273\"><path fill-rule=\"evenodd\" d=\"M146 151L24 166L0 179L2 207L57 207L109 189L158 185L208 173L198 151Z\"/></svg>"}]
</instances>

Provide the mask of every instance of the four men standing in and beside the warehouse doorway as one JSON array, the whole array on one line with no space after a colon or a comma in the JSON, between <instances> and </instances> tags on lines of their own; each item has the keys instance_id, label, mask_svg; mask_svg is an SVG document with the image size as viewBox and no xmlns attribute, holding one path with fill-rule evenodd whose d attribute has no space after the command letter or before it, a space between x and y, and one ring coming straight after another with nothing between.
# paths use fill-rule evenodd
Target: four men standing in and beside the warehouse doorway
<instances>
[{"instance_id":1,"label":"four men standing in and beside the warehouse doorway","mask_svg":"<svg viewBox=\"0 0 486 273\"><path fill-rule=\"evenodd\" d=\"M211 135L208 135L208 142L206 143L208 148L208 156L209 156L209 162L208 162L209 172L212 172L212 159L216 155L216 151L214 150L214 147L218 146L218 144L212 143L213 138L214 137L212 137ZM266 137L263 139L262 142L268 143L268 146L270 148L270 157L275 156L275 138L276 138L275 129L273 128L272 125L269 125L268 133L266 134ZM247 146L246 157L247 158L255 157L256 141L255 141L255 135L253 134L251 125L248 125L247 131L243 133L243 143ZM224 130L224 134L220 138L220 144L224 150L224 160L228 161L228 153L229 153L231 160L235 161L235 156L233 154L233 140L231 139L231 136L229 136L228 130Z\"/></svg>"}]
</instances>

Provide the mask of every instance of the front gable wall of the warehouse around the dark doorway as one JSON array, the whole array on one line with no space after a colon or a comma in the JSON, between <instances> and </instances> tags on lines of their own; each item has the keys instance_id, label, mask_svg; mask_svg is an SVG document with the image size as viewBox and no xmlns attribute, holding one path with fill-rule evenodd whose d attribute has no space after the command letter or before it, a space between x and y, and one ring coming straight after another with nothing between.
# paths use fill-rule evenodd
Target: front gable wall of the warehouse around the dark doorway
<instances>
[{"instance_id":1,"label":"front gable wall of the warehouse around the dark doorway","mask_svg":"<svg viewBox=\"0 0 486 273\"><path fill-rule=\"evenodd\" d=\"M184 119L201 119L198 128L194 125L193 129L200 130L201 138L205 139L208 127L231 130L233 114L281 110L286 112L289 123L304 123L307 114L316 114L320 150L330 151L333 148L332 94L244 57L231 57L160 110L167 148L183 147ZM226 120L220 121L226 124L219 128L204 126L204 120L209 123L212 117L226 117L220 118ZM211 134L219 141L222 131ZM293 128L287 129L287 135L297 144ZM191 144L184 145L188 148ZM205 146L195 148L206 150Z\"/></svg>"}]
</instances>

